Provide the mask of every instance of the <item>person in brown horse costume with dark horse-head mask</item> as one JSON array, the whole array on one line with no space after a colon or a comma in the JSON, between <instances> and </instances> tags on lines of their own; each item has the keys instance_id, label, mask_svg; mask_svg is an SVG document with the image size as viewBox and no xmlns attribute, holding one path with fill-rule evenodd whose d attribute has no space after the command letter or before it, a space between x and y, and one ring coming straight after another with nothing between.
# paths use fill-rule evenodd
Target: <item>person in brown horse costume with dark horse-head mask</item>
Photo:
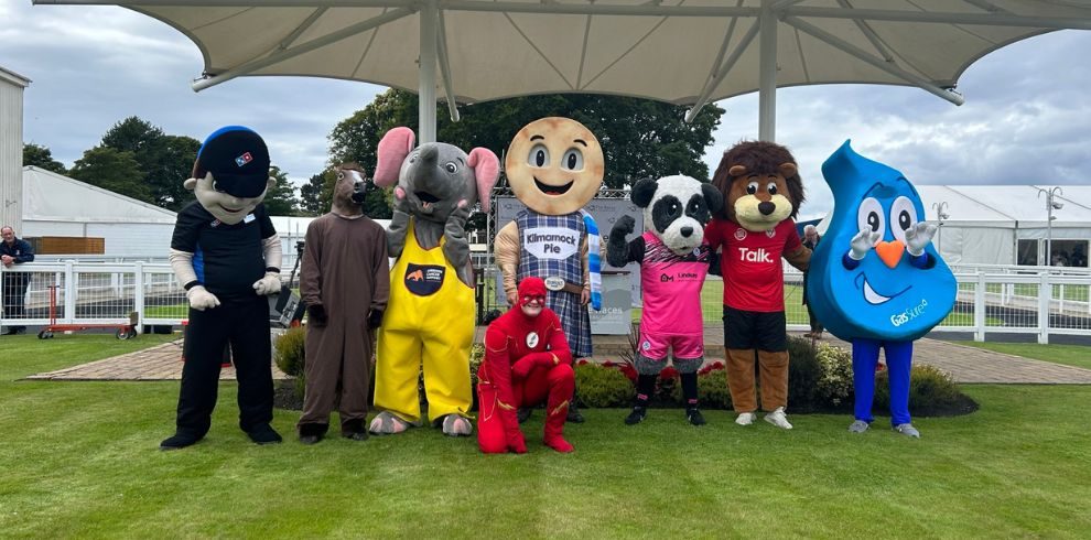
<instances>
[{"instance_id":1,"label":"person in brown horse costume with dark horse-head mask","mask_svg":"<svg viewBox=\"0 0 1091 540\"><path fill-rule=\"evenodd\" d=\"M390 294L387 234L364 215L364 170L336 168L331 210L306 229L300 294L307 309L306 392L296 423L300 441L314 444L341 413L341 434L367 439L371 335Z\"/></svg>"}]
</instances>

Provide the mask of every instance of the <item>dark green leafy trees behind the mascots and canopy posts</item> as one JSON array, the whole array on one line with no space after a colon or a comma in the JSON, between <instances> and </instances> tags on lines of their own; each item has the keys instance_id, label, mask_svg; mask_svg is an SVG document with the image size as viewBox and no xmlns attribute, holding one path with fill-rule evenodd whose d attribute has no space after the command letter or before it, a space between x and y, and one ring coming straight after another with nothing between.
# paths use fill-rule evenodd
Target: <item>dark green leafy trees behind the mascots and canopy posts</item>
<instances>
[{"instance_id":1,"label":"dark green leafy trees behind the mascots and canopy posts","mask_svg":"<svg viewBox=\"0 0 1091 540\"><path fill-rule=\"evenodd\" d=\"M464 150L484 147L498 156L511 137L527 123L549 116L573 118L586 126L603 147L606 159L606 187L623 187L633 181L669 174L687 174L707 180L702 161L713 142L712 132L724 110L706 106L693 122L683 118L687 108L618 96L553 94L528 96L464 106L462 120L453 122L445 105L436 106L438 139ZM318 216L330 209L336 176L333 166L357 162L369 173L375 169L376 149L387 130L418 125L417 95L390 89L350 117L338 122L330 134L328 165L299 187L288 174L273 166L277 184L266 195L271 215ZM98 145L84 152L72 169L54 160L47 147L24 144L23 164L34 165L73 179L179 210L193 199L182 187L190 177L201 141L166 134L138 117L114 125ZM276 156L273 156L276 158ZM501 181L503 182L503 181ZM369 185L365 213L376 219L391 215L389 190ZM484 227L485 216L471 218L471 228Z\"/></svg>"}]
</instances>

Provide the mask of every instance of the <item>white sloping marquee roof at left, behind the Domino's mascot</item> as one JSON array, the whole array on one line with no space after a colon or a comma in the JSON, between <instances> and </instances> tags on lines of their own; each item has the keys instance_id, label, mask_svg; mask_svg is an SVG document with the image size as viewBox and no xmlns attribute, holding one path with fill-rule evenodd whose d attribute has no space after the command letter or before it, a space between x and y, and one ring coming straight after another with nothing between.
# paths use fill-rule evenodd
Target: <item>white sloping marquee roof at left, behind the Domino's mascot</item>
<instances>
[{"instance_id":1,"label":"white sloping marquee roof at left, behind the Domino's mascot","mask_svg":"<svg viewBox=\"0 0 1091 540\"><path fill-rule=\"evenodd\" d=\"M173 224L169 209L109 190L26 165L23 168L23 220Z\"/></svg>"}]
</instances>

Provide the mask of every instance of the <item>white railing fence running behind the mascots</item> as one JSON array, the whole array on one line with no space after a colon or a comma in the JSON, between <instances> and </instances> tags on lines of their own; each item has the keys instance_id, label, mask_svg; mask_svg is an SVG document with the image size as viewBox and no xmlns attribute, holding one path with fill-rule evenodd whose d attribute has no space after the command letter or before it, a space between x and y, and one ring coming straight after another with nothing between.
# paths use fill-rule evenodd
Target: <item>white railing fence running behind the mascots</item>
<instances>
[{"instance_id":1,"label":"white railing fence running behind the mascots","mask_svg":"<svg viewBox=\"0 0 1091 540\"><path fill-rule=\"evenodd\" d=\"M1036 272L1028 273L1028 268ZM290 270L285 266L283 279ZM1073 270L1077 269L982 267L966 271L966 267L957 267L958 302L933 332L972 333L975 341L984 341L987 334L1033 334L1039 343L1048 343L1050 334L1091 336L1091 272ZM11 272L29 278L24 313L15 317L4 309L0 327L121 325L128 324L134 313L138 331L142 331L145 325L177 326L188 312L185 293L165 262L31 262L0 268L0 278ZM480 272L492 276L489 268ZM479 283L490 287L488 280ZM2 296L4 307L12 301L10 294ZM790 330L808 328L802 294L802 274L786 271L785 307ZM478 294L483 300L492 296ZM705 322L722 320L722 299L723 282L710 277L702 291Z\"/></svg>"}]
</instances>

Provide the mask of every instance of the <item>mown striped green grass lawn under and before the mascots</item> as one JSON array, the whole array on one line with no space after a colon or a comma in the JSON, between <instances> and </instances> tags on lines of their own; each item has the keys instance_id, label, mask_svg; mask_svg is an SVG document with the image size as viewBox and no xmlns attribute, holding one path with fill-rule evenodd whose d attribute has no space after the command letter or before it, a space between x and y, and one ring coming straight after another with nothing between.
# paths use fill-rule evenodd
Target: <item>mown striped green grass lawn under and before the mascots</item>
<instances>
[{"instance_id":1,"label":"mown striped green grass lawn under and before the mascots","mask_svg":"<svg viewBox=\"0 0 1091 540\"><path fill-rule=\"evenodd\" d=\"M30 336L28 336L30 337ZM0 338L0 531L36 538L1077 538L1091 530L1091 387L970 386L974 414L917 419L921 440L864 435L847 415L744 429L681 410L571 425L576 452L525 431L530 454L484 456L435 430L256 446L223 384L209 436L177 452L177 382L13 380L118 354L75 335ZM169 337L169 336L163 336ZM76 350L83 346L83 357ZM298 412L277 411L291 435ZM1083 533L1079 531L1084 531Z\"/></svg>"}]
</instances>

